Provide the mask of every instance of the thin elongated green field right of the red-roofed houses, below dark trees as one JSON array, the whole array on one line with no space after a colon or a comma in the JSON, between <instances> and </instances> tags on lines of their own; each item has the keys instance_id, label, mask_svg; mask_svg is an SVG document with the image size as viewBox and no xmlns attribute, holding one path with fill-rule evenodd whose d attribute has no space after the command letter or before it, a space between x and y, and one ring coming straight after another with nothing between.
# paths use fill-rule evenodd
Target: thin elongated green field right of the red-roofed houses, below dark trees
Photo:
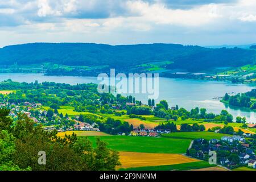
<instances>
[{"instance_id":1,"label":"thin elongated green field right of the red-roofed houses, below dark trees","mask_svg":"<svg viewBox=\"0 0 256 182\"><path fill-rule=\"evenodd\" d=\"M227 134L220 134L208 131L197 131L197 132L177 132L177 133L170 133L170 134L163 134L163 137L166 138L173 138L173 139L221 139L223 136L228 136Z\"/></svg>"}]
</instances>

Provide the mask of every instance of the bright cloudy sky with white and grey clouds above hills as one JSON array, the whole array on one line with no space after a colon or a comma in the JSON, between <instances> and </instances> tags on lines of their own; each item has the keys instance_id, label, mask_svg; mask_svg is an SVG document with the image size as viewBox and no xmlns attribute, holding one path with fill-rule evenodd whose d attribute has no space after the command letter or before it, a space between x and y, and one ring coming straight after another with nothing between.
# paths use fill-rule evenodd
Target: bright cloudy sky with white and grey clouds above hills
<instances>
[{"instance_id":1,"label":"bright cloudy sky with white and grey clouds above hills","mask_svg":"<svg viewBox=\"0 0 256 182\"><path fill-rule=\"evenodd\" d=\"M256 43L255 0L0 0L0 47Z\"/></svg>"}]
</instances>

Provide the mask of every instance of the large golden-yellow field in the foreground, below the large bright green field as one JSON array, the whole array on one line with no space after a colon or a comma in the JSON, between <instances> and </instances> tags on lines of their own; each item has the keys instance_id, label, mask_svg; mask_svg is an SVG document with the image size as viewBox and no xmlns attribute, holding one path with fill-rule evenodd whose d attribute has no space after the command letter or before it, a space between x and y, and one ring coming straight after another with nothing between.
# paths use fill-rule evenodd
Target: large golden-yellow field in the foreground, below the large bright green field
<instances>
[{"instance_id":1,"label":"large golden-yellow field in the foreground, below the large bright green field","mask_svg":"<svg viewBox=\"0 0 256 182\"><path fill-rule=\"evenodd\" d=\"M151 154L142 152L119 152L121 166L117 168L133 168L144 166L163 166L198 162L181 154Z\"/></svg>"}]
</instances>

